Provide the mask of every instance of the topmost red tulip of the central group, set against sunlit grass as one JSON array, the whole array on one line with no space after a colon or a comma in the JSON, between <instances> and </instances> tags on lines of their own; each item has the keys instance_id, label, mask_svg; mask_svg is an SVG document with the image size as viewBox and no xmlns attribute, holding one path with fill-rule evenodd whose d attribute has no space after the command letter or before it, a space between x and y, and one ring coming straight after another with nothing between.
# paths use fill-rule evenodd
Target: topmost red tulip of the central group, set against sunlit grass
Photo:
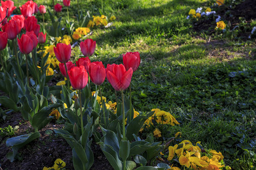
<instances>
[{"instance_id":1,"label":"topmost red tulip of the central group, set against sunlit grass","mask_svg":"<svg viewBox=\"0 0 256 170\"><path fill-rule=\"evenodd\" d=\"M84 54L85 57L92 56L96 48L96 41L93 41L92 39L86 39L84 42L80 43L80 48L82 54Z\"/></svg>"}]
</instances>

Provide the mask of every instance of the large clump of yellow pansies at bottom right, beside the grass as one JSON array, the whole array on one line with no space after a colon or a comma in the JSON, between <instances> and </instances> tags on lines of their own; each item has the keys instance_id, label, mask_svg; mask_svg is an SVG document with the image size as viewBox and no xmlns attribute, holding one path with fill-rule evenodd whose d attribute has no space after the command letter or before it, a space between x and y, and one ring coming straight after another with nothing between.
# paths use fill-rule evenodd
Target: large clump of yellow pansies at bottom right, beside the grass
<instances>
[{"instance_id":1,"label":"large clump of yellow pansies at bottom right, beside the grass","mask_svg":"<svg viewBox=\"0 0 256 170\"><path fill-rule=\"evenodd\" d=\"M216 150L205 151L197 142L196 145L188 140L184 140L175 146L169 146L167 160L172 160L175 156L179 159L180 165L192 169L231 169L224 164L224 156Z\"/></svg>"}]
</instances>

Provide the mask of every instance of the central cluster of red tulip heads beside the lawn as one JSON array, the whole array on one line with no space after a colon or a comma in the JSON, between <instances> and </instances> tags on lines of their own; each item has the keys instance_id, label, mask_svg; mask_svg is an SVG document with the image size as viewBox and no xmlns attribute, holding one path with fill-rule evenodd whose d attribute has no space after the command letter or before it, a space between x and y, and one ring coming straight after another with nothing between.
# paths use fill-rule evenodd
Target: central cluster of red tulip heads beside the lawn
<instances>
[{"instance_id":1,"label":"central cluster of red tulip heads beside the lawn","mask_svg":"<svg viewBox=\"0 0 256 170\"><path fill-rule=\"evenodd\" d=\"M113 88L117 91L126 90L130 86L131 76L141 63L138 52L123 54L123 65L108 64L104 67L101 61L90 62L96 48L96 41L86 39L80 44L81 52L85 57L79 58L76 65L69 61L71 57L71 45L59 43L54 48L55 56L61 62L59 64L61 74L68 78L76 90L82 90L88 83L88 73L94 84L100 86L105 78L108 79ZM67 70L66 70L67 68Z\"/></svg>"}]
</instances>

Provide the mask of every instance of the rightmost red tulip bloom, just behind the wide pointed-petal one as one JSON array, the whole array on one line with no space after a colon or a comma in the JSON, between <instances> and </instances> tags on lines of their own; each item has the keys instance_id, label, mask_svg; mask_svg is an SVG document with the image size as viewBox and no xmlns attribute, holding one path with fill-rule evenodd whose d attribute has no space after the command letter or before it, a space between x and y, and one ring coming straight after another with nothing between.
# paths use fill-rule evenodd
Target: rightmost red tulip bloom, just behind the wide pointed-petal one
<instances>
[{"instance_id":1,"label":"rightmost red tulip bloom, just behind the wide pointed-petal one","mask_svg":"<svg viewBox=\"0 0 256 170\"><path fill-rule=\"evenodd\" d=\"M140 63L141 57L139 57L138 52L128 52L123 54L123 65L125 66L126 70L132 68L133 72L135 72L138 69Z\"/></svg>"}]
</instances>

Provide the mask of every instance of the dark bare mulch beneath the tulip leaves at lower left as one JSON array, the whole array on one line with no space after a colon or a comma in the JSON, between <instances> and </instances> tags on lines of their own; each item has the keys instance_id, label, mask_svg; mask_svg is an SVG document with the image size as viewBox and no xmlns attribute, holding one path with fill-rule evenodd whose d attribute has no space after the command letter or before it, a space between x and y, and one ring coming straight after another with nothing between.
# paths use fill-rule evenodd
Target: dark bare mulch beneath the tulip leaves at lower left
<instances>
[{"instance_id":1,"label":"dark bare mulch beneath the tulip leaves at lower left","mask_svg":"<svg viewBox=\"0 0 256 170\"><path fill-rule=\"evenodd\" d=\"M8 125L19 126L19 129L15 131L15 136L34 131L30 122L24 121L20 113L8 114L8 119L1 124L1 128ZM6 154L11 151L11 148L6 147L5 142L7 138L2 139L0 144L0 167L3 170L43 169L43 167L52 167L55 160L60 158L66 163L67 169L74 169L72 148L65 139L56 137L53 131L54 129L62 129L63 127L63 124L56 124L56 121L51 121L45 128L39 130L41 134L39 139L19 149L19 154L16 155L12 163L6 158ZM46 130L52 130L53 133L47 134ZM94 164L91 169L113 169L102 153L100 146L95 142L92 143L92 150L94 154Z\"/></svg>"}]
</instances>

